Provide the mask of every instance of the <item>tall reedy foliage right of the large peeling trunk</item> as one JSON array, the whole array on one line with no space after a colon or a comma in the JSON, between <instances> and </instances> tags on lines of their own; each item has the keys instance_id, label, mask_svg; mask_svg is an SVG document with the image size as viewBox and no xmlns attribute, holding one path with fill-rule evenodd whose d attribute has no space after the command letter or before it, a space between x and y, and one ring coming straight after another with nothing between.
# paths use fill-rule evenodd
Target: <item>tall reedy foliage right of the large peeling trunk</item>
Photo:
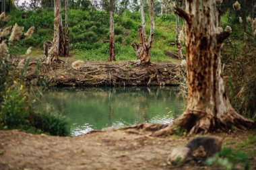
<instances>
[{"instance_id":1,"label":"tall reedy foliage right of the large peeling trunk","mask_svg":"<svg viewBox=\"0 0 256 170\"><path fill-rule=\"evenodd\" d=\"M242 3L242 9L243 9ZM226 88L232 106L247 118L256 118L256 41L251 23L237 22L247 11L230 10L222 17L223 26L232 26L232 35L222 48Z\"/></svg>"}]
</instances>

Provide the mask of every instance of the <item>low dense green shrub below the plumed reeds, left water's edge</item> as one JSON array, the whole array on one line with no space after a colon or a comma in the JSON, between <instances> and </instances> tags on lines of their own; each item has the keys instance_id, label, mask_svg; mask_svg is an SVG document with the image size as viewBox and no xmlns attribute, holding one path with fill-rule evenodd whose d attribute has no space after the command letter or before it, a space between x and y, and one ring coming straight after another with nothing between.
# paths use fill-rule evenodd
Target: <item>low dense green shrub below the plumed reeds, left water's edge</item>
<instances>
[{"instance_id":1,"label":"low dense green shrub below the plumed reeds, left water's edge","mask_svg":"<svg viewBox=\"0 0 256 170\"><path fill-rule=\"evenodd\" d=\"M65 117L54 111L36 112L34 103L22 83L13 81L3 93L0 108L0 129L19 128L33 133L49 133L57 136L69 135L69 126Z\"/></svg>"}]
</instances>

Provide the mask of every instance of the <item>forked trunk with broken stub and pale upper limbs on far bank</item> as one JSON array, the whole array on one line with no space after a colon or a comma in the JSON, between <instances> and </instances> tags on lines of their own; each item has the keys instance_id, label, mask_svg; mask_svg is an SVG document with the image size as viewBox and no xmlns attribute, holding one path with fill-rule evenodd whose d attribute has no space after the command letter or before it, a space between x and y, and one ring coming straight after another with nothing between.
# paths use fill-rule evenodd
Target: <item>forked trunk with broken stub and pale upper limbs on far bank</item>
<instances>
[{"instance_id":1,"label":"forked trunk with broken stub and pale upper limbs on far bank","mask_svg":"<svg viewBox=\"0 0 256 170\"><path fill-rule=\"evenodd\" d=\"M153 1L150 0L150 37L148 38L147 42L147 35L146 35L146 29L145 29L145 16L144 16L144 5L143 0L141 0L140 10L141 10L141 26L139 26L138 32L139 32L139 44L136 44L135 42L131 44L133 46L133 49L135 50L135 54L137 56L137 59L140 60L141 63L150 62L150 52L152 48L152 43L154 40L154 29L155 29L155 23L154 23L154 11L153 11Z\"/></svg>"}]
</instances>

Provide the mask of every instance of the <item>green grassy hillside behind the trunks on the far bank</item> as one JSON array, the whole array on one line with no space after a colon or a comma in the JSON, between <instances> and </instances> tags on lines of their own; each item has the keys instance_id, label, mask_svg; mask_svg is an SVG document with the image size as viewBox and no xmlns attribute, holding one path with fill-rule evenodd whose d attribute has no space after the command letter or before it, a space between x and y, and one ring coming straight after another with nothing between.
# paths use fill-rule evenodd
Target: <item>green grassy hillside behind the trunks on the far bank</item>
<instances>
[{"instance_id":1,"label":"green grassy hillside behind the trunks on the far bank","mask_svg":"<svg viewBox=\"0 0 256 170\"><path fill-rule=\"evenodd\" d=\"M42 54L42 44L46 40L53 40L53 10L38 9L37 11L12 11L11 19L6 26L18 23L25 30L35 26L34 35L19 42L14 42L11 53L25 54L26 48L32 46L32 56ZM149 34L149 17L146 16L146 32ZM70 50L75 58L82 60L107 60L108 58L108 22L109 15L105 11L82 11L71 9L69 11ZM137 42L137 28L141 23L140 13L125 11L123 15L115 15L115 51L117 60L135 60L135 52L131 46ZM151 60L170 61L165 56L166 50L176 51L175 42L175 15L155 16L155 40L151 53ZM63 13L63 26L65 15Z\"/></svg>"}]
</instances>

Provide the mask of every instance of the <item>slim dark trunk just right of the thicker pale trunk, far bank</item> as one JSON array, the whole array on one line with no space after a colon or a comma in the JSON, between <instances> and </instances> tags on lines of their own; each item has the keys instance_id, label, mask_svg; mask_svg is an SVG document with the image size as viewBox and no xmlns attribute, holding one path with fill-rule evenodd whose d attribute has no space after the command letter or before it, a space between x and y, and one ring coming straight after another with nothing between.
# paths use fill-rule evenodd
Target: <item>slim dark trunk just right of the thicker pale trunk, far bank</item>
<instances>
[{"instance_id":1,"label":"slim dark trunk just right of the thicker pale trunk, far bank","mask_svg":"<svg viewBox=\"0 0 256 170\"><path fill-rule=\"evenodd\" d=\"M65 0L65 56L69 56L69 1Z\"/></svg>"}]
</instances>

